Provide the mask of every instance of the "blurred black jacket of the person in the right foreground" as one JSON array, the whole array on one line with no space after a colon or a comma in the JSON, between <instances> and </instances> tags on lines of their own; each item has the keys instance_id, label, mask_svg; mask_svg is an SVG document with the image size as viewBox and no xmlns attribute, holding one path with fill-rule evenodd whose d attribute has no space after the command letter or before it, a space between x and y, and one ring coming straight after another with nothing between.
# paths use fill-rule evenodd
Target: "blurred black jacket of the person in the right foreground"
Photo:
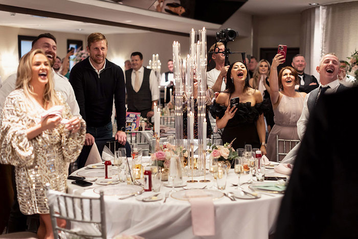
<instances>
[{"instance_id":1,"label":"blurred black jacket of the person in the right foreground","mask_svg":"<svg viewBox=\"0 0 358 239\"><path fill-rule=\"evenodd\" d=\"M358 238L358 88L323 95L308 121L275 238ZM353 146L353 147L352 147Z\"/></svg>"}]
</instances>

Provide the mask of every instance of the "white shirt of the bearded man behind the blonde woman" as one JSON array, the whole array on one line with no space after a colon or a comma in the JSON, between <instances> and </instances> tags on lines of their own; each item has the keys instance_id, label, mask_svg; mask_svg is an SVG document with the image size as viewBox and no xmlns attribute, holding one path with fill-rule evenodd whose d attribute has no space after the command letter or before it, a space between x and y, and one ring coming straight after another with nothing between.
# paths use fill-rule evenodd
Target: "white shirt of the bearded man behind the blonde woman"
<instances>
[{"instance_id":1,"label":"white shirt of the bearded man behind the blonde woman","mask_svg":"<svg viewBox=\"0 0 358 239\"><path fill-rule=\"evenodd\" d=\"M55 91L61 92L63 95L63 98L66 100L66 103L71 108L71 112L73 115L80 115L80 108L78 107L75 92L73 91L72 85L66 79L65 77L61 77L55 71L52 71L53 73L53 80L54 80L54 89ZM0 89L0 113L3 110L6 97L15 90L15 84L16 84L16 74L10 75L3 83L2 88Z\"/></svg>"}]
</instances>

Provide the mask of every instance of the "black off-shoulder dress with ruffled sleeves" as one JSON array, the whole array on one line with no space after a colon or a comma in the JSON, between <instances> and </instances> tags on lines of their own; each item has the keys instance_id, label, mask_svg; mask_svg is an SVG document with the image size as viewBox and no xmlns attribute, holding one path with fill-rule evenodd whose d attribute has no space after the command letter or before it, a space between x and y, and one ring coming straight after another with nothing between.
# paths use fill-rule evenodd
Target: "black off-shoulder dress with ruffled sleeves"
<instances>
[{"instance_id":1,"label":"black off-shoulder dress with ruffled sleeves","mask_svg":"<svg viewBox=\"0 0 358 239\"><path fill-rule=\"evenodd\" d=\"M253 148L260 148L261 142L256 129L256 121L259 116L269 110L267 100L251 106L251 102L239 103L235 116L225 126L221 139L222 143L230 143L235 138L232 147L244 148L245 144L251 144ZM227 107L216 104L210 108L212 116L221 119L225 115Z\"/></svg>"}]
</instances>

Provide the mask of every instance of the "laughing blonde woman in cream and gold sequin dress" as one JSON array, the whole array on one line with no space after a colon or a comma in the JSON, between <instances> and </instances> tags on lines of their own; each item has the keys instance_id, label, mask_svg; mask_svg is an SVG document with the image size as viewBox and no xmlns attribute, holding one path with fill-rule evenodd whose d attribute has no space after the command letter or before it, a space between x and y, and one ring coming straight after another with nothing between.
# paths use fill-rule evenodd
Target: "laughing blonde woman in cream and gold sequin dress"
<instances>
[{"instance_id":1,"label":"laughing blonde woman in cream and gold sequin dress","mask_svg":"<svg viewBox=\"0 0 358 239\"><path fill-rule=\"evenodd\" d=\"M20 59L16 90L6 99L0 128L1 163L15 166L21 212L40 215L39 238L53 238L44 187L65 191L68 168L84 143L85 122L73 117L60 93L54 91L52 69L41 50ZM62 113L47 110L63 105ZM60 222L64 225L64 222Z\"/></svg>"}]
</instances>

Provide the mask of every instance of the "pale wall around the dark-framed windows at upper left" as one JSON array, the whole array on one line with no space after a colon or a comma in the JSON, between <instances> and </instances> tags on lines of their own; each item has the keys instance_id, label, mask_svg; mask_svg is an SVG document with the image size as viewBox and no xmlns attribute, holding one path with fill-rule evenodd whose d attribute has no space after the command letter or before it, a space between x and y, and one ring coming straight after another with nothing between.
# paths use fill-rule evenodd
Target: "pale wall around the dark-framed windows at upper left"
<instances>
[{"instance_id":1,"label":"pale wall around the dark-framed windows at upper left","mask_svg":"<svg viewBox=\"0 0 358 239\"><path fill-rule=\"evenodd\" d=\"M0 76L4 81L9 75L17 71L18 47L17 35L38 36L39 34L50 32L57 40L57 55L64 57L67 53L67 39L82 40L86 45L85 34L73 34L56 31L33 30L26 28L13 28L0 26Z\"/></svg>"}]
</instances>

